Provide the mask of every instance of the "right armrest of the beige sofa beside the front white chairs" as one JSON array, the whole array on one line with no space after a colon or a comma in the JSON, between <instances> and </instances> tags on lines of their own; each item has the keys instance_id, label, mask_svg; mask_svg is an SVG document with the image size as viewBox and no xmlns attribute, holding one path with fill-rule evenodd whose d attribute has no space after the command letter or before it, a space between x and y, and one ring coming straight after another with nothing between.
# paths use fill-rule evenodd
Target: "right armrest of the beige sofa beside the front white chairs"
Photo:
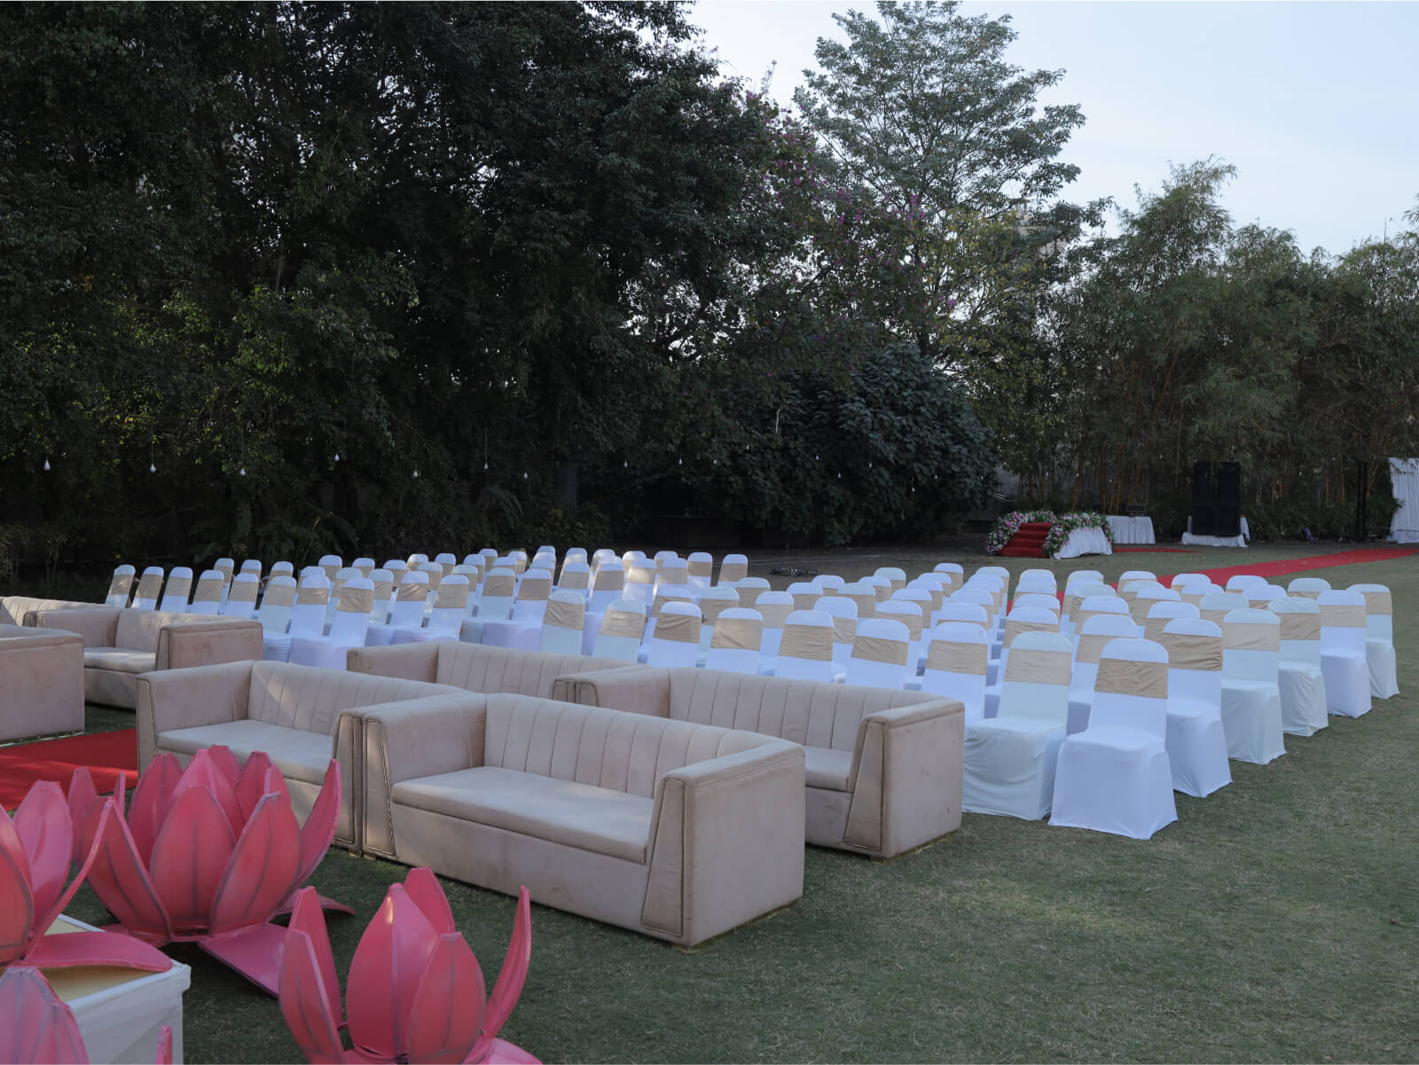
<instances>
[{"instance_id":1,"label":"right armrest of the beige sofa beside the front white chairs","mask_svg":"<svg viewBox=\"0 0 1419 1065\"><path fill-rule=\"evenodd\" d=\"M965 706L959 699L868 713L857 727L843 844L894 858L961 827Z\"/></svg>"}]
</instances>

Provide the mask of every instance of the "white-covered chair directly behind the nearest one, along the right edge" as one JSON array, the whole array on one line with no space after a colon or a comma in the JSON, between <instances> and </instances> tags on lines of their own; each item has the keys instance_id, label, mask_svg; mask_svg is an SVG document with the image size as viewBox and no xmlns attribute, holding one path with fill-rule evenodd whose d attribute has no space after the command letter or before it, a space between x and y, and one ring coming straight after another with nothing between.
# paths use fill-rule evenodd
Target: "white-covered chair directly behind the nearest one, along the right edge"
<instances>
[{"instance_id":1,"label":"white-covered chair directly behind the nearest one, along the right edge","mask_svg":"<svg viewBox=\"0 0 1419 1065\"><path fill-rule=\"evenodd\" d=\"M1200 618L1174 618L1154 642L1168 651L1172 786L1185 796L1210 796L1232 783L1222 727L1222 628Z\"/></svg>"}]
</instances>

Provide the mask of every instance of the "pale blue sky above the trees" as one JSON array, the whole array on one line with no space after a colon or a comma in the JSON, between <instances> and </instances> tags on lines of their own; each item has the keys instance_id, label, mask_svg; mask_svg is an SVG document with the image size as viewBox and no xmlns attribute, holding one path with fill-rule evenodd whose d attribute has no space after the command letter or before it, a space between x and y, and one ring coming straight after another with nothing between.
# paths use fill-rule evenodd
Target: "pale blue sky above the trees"
<instances>
[{"instance_id":1,"label":"pale blue sky above the trees","mask_svg":"<svg viewBox=\"0 0 1419 1065\"><path fill-rule=\"evenodd\" d=\"M698 0L690 21L727 75L790 104L834 11L871 0ZM1042 104L1080 104L1063 159L1074 201L1134 207L1169 163L1237 167L1223 206L1239 225L1290 230L1303 251L1341 254L1403 228L1419 196L1419 3L962 3L1009 14L1007 57L1063 69Z\"/></svg>"}]
</instances>

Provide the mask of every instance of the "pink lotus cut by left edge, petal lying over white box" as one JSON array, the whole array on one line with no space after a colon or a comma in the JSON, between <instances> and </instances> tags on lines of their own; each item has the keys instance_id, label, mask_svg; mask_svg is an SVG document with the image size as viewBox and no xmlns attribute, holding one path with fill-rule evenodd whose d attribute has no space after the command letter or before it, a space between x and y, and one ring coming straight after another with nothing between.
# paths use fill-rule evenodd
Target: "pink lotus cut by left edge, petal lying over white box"
<instances>
[{"instance_id":1,"label":"pink lotus cut by left edge, petal lying over white box","mask_svg":"<svg viewBox=\"0 0 1419 1065\"><path fill-rule=\"evenodd\" d=\"M112 815L104 811L98 821L106 827ZM44 935L70 905L94 864L92 851L85 852L78 876L64 886L74 854L72 837L70 808L53 781L35 783L14 811L13 821L0 810L0 966L122 966L166 971L172 966L166 954L128 936L112 932Z\"/></svg>"}]
</instances>

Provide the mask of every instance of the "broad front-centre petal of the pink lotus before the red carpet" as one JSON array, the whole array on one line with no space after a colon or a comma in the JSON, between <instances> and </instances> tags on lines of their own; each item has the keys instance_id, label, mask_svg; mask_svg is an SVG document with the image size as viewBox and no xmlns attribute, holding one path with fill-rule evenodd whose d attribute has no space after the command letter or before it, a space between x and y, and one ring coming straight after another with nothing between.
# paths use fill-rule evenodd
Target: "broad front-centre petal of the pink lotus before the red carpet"
<instances>
[{"instance_id":1,"label":"broad front-centre petal of the pink lotus before the red carpet","mask_svg":"<svg viewBox=\"0 0 1419 1065\"><path fill-rule=\"evenodd\" d=\"M148 875L173 932L207 927L211 902L237 845L216 797L200 787L177 793L163 820Z\"/></svg>"}]
</instances>

